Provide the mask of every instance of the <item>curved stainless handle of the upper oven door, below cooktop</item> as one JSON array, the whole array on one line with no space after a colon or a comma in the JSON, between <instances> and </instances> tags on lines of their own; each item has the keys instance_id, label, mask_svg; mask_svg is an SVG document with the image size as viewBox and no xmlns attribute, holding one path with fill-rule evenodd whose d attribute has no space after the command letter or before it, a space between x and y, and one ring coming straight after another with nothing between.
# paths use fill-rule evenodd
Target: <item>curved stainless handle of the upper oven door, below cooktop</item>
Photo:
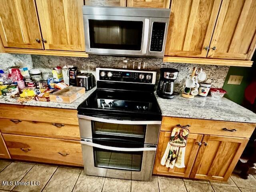
<instances>
[{"instance_id":1,"label":"curved stainless handle of the upper oven door, below cooktop","mask_svg":"<svg viewBox=\"0 0 256 192\"><path fill-rule=\"evenodd\" d=\"M98 117L91 117L85 115L77 115L78 118L98 121L103 123L115 123L115 124L126 124L126 125L160 125L161 121L128 121L128 120L116 120L116 119L105 119Z\"/></svg>"}]
</instances>

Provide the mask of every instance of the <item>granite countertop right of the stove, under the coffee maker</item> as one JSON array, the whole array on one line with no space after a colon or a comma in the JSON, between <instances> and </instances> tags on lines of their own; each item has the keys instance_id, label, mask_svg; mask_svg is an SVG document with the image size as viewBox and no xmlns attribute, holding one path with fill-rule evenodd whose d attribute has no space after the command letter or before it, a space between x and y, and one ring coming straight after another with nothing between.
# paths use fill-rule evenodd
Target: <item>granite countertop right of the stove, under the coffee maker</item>
<instances>
[{"instance_id":1,"label":"granite countertop right of the stove, under the coffee maker","mask_svg":"<svg viewBox=\"0 0 256 192\"><path fill-rule=\"evenodd\" d=\"M256 123L254 112L224 97L219 101L210 96L187 99L177 95L167 100L156 95L156 98L162 116Z\"/></svg>"}]
</instances>

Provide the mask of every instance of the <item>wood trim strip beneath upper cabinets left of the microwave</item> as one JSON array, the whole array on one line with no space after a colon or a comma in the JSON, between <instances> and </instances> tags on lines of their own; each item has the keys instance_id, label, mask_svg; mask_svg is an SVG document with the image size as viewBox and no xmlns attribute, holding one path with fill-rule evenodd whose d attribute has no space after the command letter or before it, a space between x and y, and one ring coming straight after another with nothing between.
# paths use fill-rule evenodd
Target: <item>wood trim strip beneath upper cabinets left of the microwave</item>
<instances>
[{"instance_id":1,"label":"wood trim strip beneath upper cabinets left of the microwave","mask_svg":"<svg viewBox=\"0 0 256 192\"><path fill-rule=\"evenodd\" d=\"M34 54L34 55L52 55L52 56L68 56L68 57L89 57L86 52L75 51L56 51L56 50L35 50L35 49L16 49L5 48L6 53Z\"/></svg>"}]
</instances>

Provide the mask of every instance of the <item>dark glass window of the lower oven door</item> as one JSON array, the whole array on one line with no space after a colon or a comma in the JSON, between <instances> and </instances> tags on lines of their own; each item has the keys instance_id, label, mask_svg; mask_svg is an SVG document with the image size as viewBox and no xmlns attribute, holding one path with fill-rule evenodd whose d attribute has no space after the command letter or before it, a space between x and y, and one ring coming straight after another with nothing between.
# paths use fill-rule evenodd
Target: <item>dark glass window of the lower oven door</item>
<instances>
[{"instance_id":1,"label":"dark glass window of the lower oven door","mask_svg":"<svg viewBox=\"0 0 256 192\"><path fill-rule=\"evenodd\" d=\"M140 171L143 152L118 152L94 148L94 166Z\"/></svg>"}]
</instances>

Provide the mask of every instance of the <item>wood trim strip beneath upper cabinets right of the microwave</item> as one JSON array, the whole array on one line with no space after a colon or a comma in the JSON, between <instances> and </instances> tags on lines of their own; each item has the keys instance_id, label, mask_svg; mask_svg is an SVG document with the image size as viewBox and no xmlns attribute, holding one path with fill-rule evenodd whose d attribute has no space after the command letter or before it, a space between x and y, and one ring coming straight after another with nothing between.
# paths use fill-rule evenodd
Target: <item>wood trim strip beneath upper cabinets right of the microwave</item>
<instances>
[{"instance_id":1,"label":"wood trim strip beneath upper cabinets right of the microwave","mask_svg":"<svg viewBox=\"0 0 256 192\"><path fill-rule=\"evenodd\" d=\"M255 38L255 42L256 42L256 38ZM239 66L239 67L251 67L253 64L253 61L248 61L248 60L228 60L228 59L169 57L169 56L164 56L163 62L193 63L193 64L201 64L201 65Z\"/></svg>"}]
</instances>

